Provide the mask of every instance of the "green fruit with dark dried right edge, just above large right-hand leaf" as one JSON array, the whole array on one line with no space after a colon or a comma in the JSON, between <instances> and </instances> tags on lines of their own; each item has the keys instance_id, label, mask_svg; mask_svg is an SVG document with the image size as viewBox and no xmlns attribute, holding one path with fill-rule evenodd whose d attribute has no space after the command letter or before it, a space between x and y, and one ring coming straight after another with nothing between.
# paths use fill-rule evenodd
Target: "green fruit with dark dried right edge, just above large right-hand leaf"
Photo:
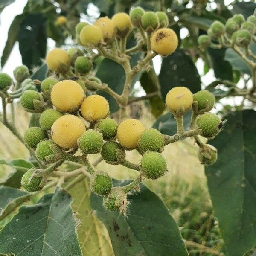
<instances>
[{"instance_id":1,"label":"green fruit with dark dried right edge, just above large right-hand leaf","mask_svg":"<svg viewBox=\"0 0 256 256\"><path fill-rule=\"evenodd\" d=\"M198 116L196 123L202 130L202 135L209 139L217 135L222 127L221 119L213 113L204 113Z\"/></svg>"}]
</instances>

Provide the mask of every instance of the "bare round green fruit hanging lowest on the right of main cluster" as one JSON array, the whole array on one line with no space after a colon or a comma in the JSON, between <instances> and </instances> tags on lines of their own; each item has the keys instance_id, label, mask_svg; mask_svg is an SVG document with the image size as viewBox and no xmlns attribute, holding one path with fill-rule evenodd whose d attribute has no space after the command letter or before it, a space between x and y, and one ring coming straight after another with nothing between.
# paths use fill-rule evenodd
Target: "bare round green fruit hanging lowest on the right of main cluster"
<instances>
[{"instance_id":1,"label":"bare round green fruit hanging lowest on the right of main cluster","mask_svg":"<svg viewBox=\"0 0 256 256\"><path fill-rule=\"evenodd\" d=\"M141 172L145 178L158 179L167 171L166 160L158 152L147 151L141 158Z\"/></svg>"}]
</instances>

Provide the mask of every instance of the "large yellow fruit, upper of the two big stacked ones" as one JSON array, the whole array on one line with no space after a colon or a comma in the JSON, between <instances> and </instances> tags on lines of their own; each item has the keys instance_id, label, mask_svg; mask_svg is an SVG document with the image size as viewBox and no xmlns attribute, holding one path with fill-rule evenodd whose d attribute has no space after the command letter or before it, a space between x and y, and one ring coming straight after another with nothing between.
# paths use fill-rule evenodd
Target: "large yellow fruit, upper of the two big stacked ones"
<instances>
[{"instance_id":1,"label":"large yellow fruit, upper of the two big stacked ones","mask_svg":"<svg viewBox=\"0 0 256 256\"><path fill-rule=\"evenodd\" d=\"M52 87L52 104L61 111L74 112L79 109L84 99L84 90L72 80L63 80Z\"/></svg>"}]
</instances>

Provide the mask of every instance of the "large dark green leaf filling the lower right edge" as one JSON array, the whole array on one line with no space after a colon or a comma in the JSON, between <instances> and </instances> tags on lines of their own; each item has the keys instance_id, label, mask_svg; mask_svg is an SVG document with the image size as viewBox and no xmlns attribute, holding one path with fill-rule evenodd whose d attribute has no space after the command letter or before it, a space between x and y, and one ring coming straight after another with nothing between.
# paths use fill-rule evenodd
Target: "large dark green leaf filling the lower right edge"
<instances>
[{"instance_id":1,"label":"large dark green leaf filling the lower right edge","mask_svg":"<svg viewBox=\"0 0 256 256\"><path fill-rule=\"evenodd\" d=\"M227 125L211 141L218 161L206 175L221 236L230 256L256 245L256 111L227 116Z\"/></svg>"}]
</instances>

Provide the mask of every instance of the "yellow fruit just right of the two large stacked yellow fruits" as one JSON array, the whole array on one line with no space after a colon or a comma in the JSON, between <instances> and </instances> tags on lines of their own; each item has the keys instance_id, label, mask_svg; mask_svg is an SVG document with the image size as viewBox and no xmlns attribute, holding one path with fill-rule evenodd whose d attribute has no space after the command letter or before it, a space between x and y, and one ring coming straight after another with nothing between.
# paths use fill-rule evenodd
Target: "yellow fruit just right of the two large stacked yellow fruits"
<instances>
[{"instance_id":1,"label":"yellow fruit just right of the two large stacked yellow fruits","mask_svg":"<svg viewBox=\"0 0 256 256\"><path fill-rule=\"evenodd\" d=\"M84 99L81 114L88 122L97 122L109 114L108 101L100 95L91 95Z\"/></svg>"}]
</instances>

